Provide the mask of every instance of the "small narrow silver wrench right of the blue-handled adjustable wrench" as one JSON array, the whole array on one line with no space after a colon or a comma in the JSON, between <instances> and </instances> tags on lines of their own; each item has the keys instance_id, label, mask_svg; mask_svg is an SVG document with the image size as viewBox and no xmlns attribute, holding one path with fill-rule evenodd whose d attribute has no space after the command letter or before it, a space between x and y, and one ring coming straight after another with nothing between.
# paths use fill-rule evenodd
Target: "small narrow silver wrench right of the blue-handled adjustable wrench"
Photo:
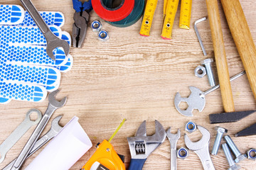
<instances>
[{"instance_id":1,"label":"small narrow silver wrench right of the blue-handled adjustable wrench","mask_svg":"<svg viewBox=\"0 0 256 170\"><path fill-rule=\"evenodd\" d=\"M177 162L176 162L176 155L177 155L177 142L178 139L181 137L181 132L178 129L178 132L176 134L171 133L171 128L166 130L166 136L168 137L168 140L171 145L171 170L177 169Z\"/></svg>"}]
</instances>

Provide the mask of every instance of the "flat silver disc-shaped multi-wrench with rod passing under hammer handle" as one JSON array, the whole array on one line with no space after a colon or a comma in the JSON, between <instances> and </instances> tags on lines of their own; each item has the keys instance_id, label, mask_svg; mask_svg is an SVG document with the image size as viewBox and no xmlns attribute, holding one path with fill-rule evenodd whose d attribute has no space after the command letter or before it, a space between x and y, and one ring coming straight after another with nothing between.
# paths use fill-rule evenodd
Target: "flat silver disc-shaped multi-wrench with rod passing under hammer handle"
<instances>
[{"instance_id":1,"label":"flat silver disc-shaped multi-wrench with rod passing under hammer handle","mask_svg":"<svg viewBox=\"0 0 256 170\"><path fill-rule=\"evenodd\" d=\"M235 76L230 77L230 81L233 81L234 79L237 79L238 77L241 77L244 74L245 74L245 71L240 72ZM203 108L206 106L206 94L210 94L210 92L215 91L216 89L219 89L219 88L220 88L220 84L213 86L211 89L208 89L207 91L203 92L194 86L189 86L191 94L188 96L188 98L181 97L181 95L177 92L174 98L175 108L182 115L193 116L194 109L197 109L199 112L201 112L203 111ZM181 102L186 102L188 104L188 108L186 108L186 110L183 110L179 107L179 104Z\"/></svg>"}]
</instances>

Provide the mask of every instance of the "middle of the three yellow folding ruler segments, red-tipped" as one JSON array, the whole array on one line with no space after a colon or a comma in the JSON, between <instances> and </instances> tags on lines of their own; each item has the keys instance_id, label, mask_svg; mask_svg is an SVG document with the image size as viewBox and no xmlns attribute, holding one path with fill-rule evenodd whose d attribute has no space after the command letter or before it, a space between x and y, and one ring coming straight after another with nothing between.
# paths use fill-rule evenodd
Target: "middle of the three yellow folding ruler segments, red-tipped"
<instances>
[{"instance_id":1,"label":"middle of the three yellow folding ruler segments, red-tipped","mask_svg":"<svg viewBox=\"0 0 256 170\"><path fill-rule=\"evenodd\" d=\"M164 17L164 24L161 32L161 38L171 39L171 30L174 26L174 19L178 8L179 0L168 0L166 5L166 15Z\"/></svg>"}]
</instances>

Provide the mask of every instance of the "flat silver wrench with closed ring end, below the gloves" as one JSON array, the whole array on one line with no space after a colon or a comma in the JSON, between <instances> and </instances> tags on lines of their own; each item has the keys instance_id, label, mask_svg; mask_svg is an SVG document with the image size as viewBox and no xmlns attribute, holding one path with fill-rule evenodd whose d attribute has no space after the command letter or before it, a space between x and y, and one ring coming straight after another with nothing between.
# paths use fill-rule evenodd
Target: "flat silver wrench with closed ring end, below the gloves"
<instances>
[{"instance_id":1,"label":"flat silver wrench with closed ring end, below the gloves","mask_svg":"<svg viewBox=\"0 0 256 170\"><path fill-rule=\"evenodd\" d=\"M36 120L31 120L30 115L32 113L37 114ZM26 113L26 117L23 120L21 124L18 125L18 127L14 130L14 132L11 132L11 135L4 140L4 142L0 145L0 163L4 161L4 158L6 156L6 153L13 147L16 142L18 142L19 139L31 128L31 126L36 125L42 118L42 113L38 111L36 108L31 109Z\"/></svg>"}]
</instances>

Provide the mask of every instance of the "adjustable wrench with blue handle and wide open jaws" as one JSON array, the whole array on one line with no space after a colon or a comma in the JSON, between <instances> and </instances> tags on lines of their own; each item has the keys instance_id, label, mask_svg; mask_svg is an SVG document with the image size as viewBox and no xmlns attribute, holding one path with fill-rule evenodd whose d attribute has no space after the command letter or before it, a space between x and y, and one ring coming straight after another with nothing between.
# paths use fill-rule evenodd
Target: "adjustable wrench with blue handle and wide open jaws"
<instances>
[{"instance_id":1,"label":"adjustable wrench with blue handle and wide open jaws","mask_svg":"<svg viewBox=\"0 0 256 170\"><path fill-rule=\"evenodd\" d=\"M146 136L146 120L139 126L134 137L127 137L129 150L132 155L129 170L142 170L147 157L154 152L166 139L166 132L163 125L155 120L156 133Z\"/></svg>"}]
</instances>

